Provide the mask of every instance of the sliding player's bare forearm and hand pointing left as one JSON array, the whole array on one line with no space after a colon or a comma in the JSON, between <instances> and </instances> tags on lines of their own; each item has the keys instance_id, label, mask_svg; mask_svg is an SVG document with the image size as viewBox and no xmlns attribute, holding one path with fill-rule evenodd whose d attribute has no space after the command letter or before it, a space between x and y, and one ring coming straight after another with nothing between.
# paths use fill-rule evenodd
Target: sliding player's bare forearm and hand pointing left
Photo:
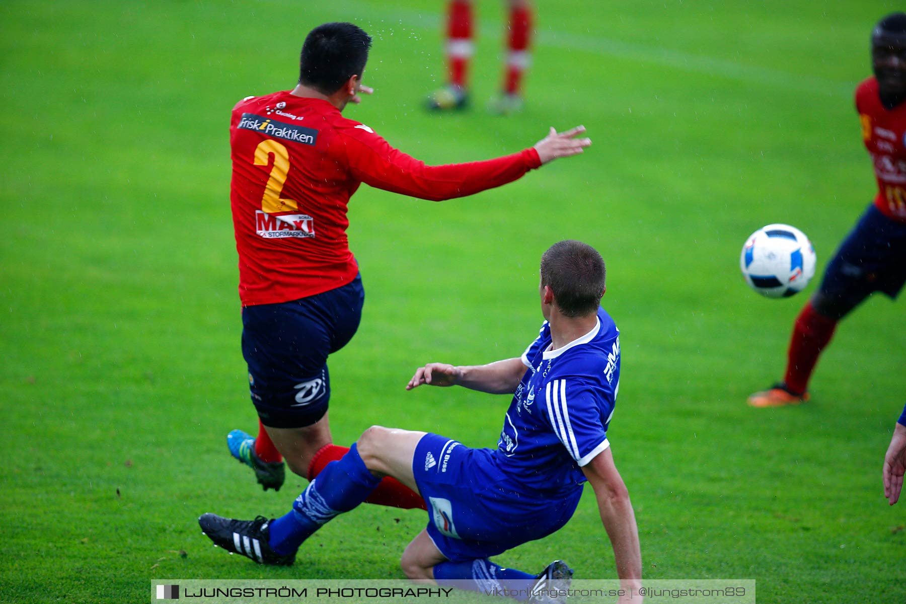
<instances>
[{"instance_id":1,"label":"sliding player's bare forearm and hand pointing left","mask_svg":"<svg viewBox=\"0 0 906 604\"><path fill-rule=\"evenodd\" d=\"M429 386L462 386L490 394L512 394L525 375L522 359L496 360L487 365L459 366L429 363L415 370L406 389Z\"/></svg>"}]
</instances>

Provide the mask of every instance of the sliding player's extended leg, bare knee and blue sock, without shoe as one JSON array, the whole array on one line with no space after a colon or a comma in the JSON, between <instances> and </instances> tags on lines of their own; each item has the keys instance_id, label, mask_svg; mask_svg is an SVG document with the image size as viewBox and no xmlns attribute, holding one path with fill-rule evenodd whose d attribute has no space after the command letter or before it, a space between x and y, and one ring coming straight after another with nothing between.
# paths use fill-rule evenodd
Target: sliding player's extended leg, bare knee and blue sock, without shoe
<instances>
[{"instance_id":1,"label":"sliding player's extended leg, bare knee and blue sock, without shoe","mask_svg":"<svg viewBox=\"0 0 906 604\"><path fill-rule=\"evenodd\" d=\"M346 455L324 467L290 513L270 523L270 547L281 555L294 552L324 523L364 502L381 476L393 475L417 490L412 456L422 436L379 426L365 430Z\"/></svg>"}]
</instances>

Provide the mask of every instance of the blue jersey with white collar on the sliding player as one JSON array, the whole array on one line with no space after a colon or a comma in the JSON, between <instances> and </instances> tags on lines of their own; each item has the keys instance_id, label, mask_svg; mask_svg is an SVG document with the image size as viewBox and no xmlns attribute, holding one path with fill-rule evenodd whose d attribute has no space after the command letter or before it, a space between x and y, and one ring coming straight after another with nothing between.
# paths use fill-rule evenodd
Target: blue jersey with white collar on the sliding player
<instances>
[{"instance_id":1,"label":"blue jersey with white collar on the sliding player","mask_svg":"<svg viewBox=\"0 0 906 604\"><path fill-rule=\"evenodd\" d=\"M598 309L592 331L558 350L547 321L522 355L527 370L506 411L497 467L539 491L585 482L580 467L610 446L620 389L620 331Z\"/></svg>"}]
</instances>

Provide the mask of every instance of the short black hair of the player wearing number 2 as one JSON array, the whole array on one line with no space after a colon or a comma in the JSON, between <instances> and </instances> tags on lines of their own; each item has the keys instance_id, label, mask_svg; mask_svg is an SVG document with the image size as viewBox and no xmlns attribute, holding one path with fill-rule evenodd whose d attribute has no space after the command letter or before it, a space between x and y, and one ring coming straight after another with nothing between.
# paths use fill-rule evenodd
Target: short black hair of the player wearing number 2
<instances>
[{"instance_id":1,"label":"short black hair of the player wearing number 2","mask_svg":"<svg viewBox=\"0 0 906 604\"><path fill-rule=\"evenodd\" d=\"M351 23L318 25L302 45L299 83L322 94L333 94L368 62L371 36Z\"/></svg>"}]
</instances>

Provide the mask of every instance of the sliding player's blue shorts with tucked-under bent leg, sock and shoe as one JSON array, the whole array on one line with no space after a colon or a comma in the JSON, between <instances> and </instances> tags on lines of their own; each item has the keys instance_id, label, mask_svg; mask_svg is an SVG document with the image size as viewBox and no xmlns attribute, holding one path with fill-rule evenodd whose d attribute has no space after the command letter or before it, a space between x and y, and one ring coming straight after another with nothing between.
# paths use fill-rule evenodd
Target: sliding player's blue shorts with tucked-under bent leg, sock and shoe
<instances>
[{"instance_id":1,"label":"sliding player's blue shorts with tucked-under bent leg, sock and shoe","mask_svg":"<svg viewBox=\"0 0 906 604\"><path fill-rule=\"evenodd\" d=\"M403 553L403 571L411 580L473 591L506 589L520 599L542 583L564 587L572 570L563 561L533 574L489 558L561 528L582 488L554 496L526 492L500 473L490 455L436 434L419 440L411 472L429 503L429 523Z\"/></svg>"}]
</instances>

